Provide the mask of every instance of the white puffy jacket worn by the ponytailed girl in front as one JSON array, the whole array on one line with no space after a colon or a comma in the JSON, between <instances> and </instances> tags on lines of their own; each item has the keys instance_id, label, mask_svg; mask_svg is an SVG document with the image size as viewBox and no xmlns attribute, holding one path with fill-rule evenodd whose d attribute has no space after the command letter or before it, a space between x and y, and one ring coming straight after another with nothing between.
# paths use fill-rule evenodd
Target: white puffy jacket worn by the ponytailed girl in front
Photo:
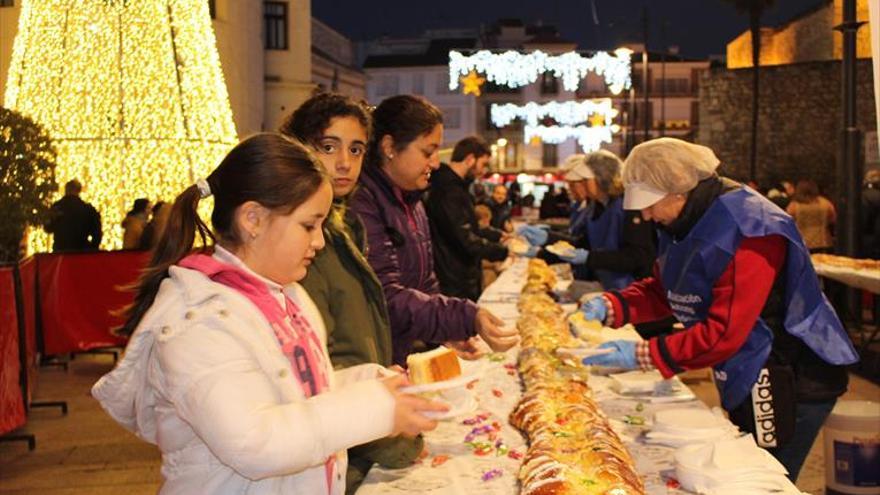
<instances>
[{"instance_id":1,"label":"white puffy jacket worn by the ponytailed girl in front","mask_svg":"<svg viewBox=\"0 0 880 495\"><path fill-rule=\"evenodd\" d=\"M322 340L320 314L285 289ZM326 343L325 343L326 353ZM268 320L247 298L194 270L170 269L119 365L92 395L162 451L161 494L344 493L345 449L391 433L394 400L381 368L336 371L306 399Z\"/></svg>"}]
</instances>

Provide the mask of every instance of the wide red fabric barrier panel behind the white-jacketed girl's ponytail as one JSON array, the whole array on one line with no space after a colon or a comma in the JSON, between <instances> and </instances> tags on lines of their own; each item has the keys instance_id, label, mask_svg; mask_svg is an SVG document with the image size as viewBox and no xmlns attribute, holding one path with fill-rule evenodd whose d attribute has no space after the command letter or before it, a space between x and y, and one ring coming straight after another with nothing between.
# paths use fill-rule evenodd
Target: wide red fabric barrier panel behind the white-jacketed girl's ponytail
<instances>
[{"instance_id":1,"label":"wide red fabric barrier panel behind the white-jacketed girl's ponytail","mask_svg":"<svg viewBox=\"0 0 880 495\"><path fill-rule=\"evenodd\" d=\"M37 258L46 355L120 346L110 331L123 323L111 315L134 298L131 285L147 265L145 251L41 254Z\"/></svg>"}]
</instances>

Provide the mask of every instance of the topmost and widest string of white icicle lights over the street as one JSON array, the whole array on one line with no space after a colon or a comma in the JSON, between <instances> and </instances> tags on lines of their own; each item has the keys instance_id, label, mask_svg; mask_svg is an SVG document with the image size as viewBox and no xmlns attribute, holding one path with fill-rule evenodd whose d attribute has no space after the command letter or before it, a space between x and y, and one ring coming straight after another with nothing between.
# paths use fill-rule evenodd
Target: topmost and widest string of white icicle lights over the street
<instances>
[{"instance_id":1,"label":"topmost and widest string of white icicle lights over the street","mask_svg":"<svg viewBox=\"0 0 880 495\"><path fill-rule=\"evenodd\" d=\"M459 76L473 70L485 74L495 84L511 88L534 83L539 75L549 72L562 80L567 91L575 91L581 79L593 72L604 77L611 93L620 94L632 85L630 55L632 50L627 48L618 48L613 55L597 52L589 57L574 51L550 55L540 50L530 53L480 50L473 55L464 55L453 50L449 52L449 89L458 89Z\"/></svg>"}]
</instances>

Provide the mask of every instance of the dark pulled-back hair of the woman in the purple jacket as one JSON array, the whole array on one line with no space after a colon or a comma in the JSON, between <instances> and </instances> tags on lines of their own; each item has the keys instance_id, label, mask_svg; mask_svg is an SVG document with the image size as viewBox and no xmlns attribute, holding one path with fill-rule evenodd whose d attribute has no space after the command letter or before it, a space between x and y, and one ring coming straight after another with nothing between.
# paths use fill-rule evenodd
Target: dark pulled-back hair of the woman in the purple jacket
<instances>
[{"instance_id":1,"label":"dark pulled-back hair of the woman in the purple jacket","mask_svg":"<svg viewBox=\"0 0 880 495\"><path fill-rule=\"evenodd\" d=\"M382 138L391 136L394 149L403 151L420 136L443 123L443 113L421 96L397 95L386 98L373 110L373 132L367 150L368 165L382 164Z\"/></svg>"}]
</instances>

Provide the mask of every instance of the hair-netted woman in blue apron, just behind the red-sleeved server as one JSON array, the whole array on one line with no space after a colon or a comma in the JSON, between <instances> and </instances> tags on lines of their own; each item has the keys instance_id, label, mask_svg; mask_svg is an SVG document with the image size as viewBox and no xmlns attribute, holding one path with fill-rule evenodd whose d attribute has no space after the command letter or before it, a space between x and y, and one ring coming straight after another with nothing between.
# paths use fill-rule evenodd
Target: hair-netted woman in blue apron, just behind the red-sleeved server
<instances>
[{"instance_id":1,"label":"hair-netted woman in blue apron, just behind the red-sleeved server","mask_svg":"<svg viewBox=\"0 0 880 495\"><path fill-rule=\"evenodd\" d=\"M654 262L651 225L638 211L624 212L621 165L617 155L605 150L570 156L564 177L579 203L569 224L572 235L535 226L520 228L520 234L533 246L560 239L573 244L575 249L559 259L574 265L577 278L593 275L605 290L622 289L648 276Z\"/></svg>"}]
</instances>

